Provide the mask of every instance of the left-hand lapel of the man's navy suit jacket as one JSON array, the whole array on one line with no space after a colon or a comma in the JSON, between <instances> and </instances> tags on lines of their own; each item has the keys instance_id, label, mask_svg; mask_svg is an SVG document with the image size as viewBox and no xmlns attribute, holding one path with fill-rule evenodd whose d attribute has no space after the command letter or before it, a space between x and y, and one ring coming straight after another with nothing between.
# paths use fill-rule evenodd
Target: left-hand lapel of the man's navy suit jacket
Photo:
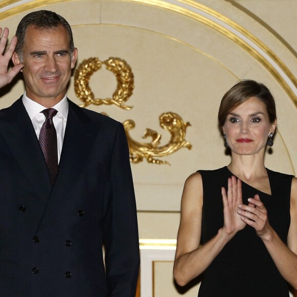
<instances>
[{"instance_id":1,"label":"left-hand lapel of the man's navy suit jacket","mask_svg":"<svg viewBox=\"0 0 297 297\"><path fill-rule=\"evenodd\" d=\"M22 97L0 113L0 134L9 146L30 188L46 204L52 186L43 152Z\"/></svg>"}]
</instances>

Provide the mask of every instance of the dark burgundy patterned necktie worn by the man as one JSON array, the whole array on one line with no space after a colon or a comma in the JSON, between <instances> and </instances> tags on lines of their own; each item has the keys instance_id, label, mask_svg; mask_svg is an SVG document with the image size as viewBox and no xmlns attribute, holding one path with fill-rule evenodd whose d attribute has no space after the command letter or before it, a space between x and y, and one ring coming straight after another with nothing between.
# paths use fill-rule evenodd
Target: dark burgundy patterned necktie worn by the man
<instances>
[{"instance_id":1,"label":"dark burgundy patterned necktie worn by the man","mask_svg":"<svg viewBox=\"0 0 297 297\"><path fill-rule=\"evenodd\" d=\"M41 113L45 115L46 120L40 129L39 143L45 155L50 171L51 182L53 184L58 172L57 132L53 123L53 117L57 114L57 111L53 108L49 108L43 110Z\"/></svg>"}]
</instances>

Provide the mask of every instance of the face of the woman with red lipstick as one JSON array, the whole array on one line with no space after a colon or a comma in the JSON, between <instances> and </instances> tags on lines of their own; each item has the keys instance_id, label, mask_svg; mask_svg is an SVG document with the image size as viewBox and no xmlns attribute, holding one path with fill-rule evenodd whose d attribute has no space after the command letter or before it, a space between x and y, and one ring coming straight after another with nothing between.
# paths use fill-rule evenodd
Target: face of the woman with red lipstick
<instances>
[{"instance_id":1,"label":"face of the woman with red lipstick","mask_svg":"<svg viewBox=\"0 0 297 297\"><path fill-rule=\"evenodd\" d=\"M269 122L266 105L251 97L226 117L222 127L231 151L237 155L253 155L265 149L268 135L274 133L277 120Z\"/></svg>"}]
</instances>

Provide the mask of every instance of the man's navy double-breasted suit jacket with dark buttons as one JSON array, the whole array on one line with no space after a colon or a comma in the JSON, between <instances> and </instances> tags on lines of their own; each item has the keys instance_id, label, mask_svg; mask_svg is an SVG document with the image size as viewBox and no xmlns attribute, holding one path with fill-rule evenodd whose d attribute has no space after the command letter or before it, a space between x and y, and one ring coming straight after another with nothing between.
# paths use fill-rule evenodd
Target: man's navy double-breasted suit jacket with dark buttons
<instances>
[{"instance_id":1,"label":"man's navy double-breasted suit jacket with dark buttons","mask_svg":"<svg viewBox=\"0 0 297 297\"><path fill-rule=\"evenodd\" d=\"M22 98L1 110L0 295L134 297L138 268L123 126L69 100L52 186Z\"/></svg>"}]
</instances>

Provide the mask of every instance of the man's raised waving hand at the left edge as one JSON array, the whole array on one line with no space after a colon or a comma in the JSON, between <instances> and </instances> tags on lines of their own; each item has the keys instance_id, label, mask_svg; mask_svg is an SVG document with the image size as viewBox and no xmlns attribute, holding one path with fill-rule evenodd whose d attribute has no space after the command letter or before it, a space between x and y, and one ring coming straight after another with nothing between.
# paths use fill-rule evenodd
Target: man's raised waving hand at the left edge
<instances>
[{"instance_id":1,"label":"man's raised waving hand at the left edge","mask_svg":"<svg viewBox=\"0 0 297 297\"><path fill-rule=\"evenodd\" d=\"M8 63L13 55L17 41L16 36L13 36L7 49L5 49L8 34L8 28L0 28L0 88L10 83L17 73L24 67L24 65L20 63L8 71Z\"/></svg>"}]
</instances>

